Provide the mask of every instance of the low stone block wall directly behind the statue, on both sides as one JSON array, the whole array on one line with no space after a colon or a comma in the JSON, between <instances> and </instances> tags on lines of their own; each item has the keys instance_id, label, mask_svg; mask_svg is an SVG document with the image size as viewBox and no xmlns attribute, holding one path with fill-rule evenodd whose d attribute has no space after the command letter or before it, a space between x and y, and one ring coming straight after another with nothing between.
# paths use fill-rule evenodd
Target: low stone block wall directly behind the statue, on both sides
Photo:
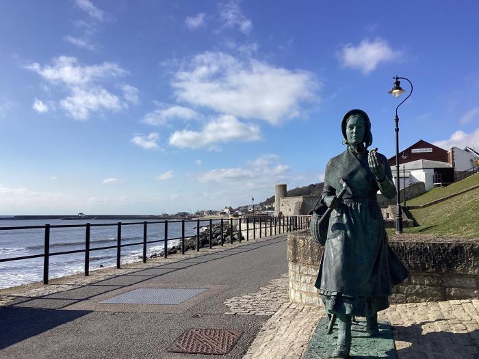
<instances>
[{"instance_id":1,"label":"low stone block wall directly behind the statue, on both sides","mask_svg":"<svg viewBox=\"0 0 479 359\"><path fill-rule=\"evenodd\" d=\"M436 239L413 235L389 239L409 269L405 282L394 287L390 302L414 303L479 297L479 239ZM289 299L320 306L314 283L323 247L309 231L288 235Z\"/></svg>"}]
</instances>

